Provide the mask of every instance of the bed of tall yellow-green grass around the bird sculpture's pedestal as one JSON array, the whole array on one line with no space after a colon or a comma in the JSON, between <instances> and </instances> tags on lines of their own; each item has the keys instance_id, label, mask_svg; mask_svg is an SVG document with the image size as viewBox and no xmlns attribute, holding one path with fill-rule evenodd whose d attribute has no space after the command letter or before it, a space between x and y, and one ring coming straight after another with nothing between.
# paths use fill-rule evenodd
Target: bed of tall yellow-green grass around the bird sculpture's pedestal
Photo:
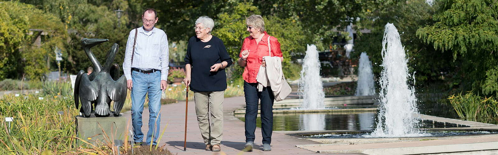
<instances>
[{"instance_id":1,"label":"bed of tall yellow-green grass around the bird sculpture's pedestal","mask_svg":"<svg viewBox=\"0 0 498 155\"><path fill-rule=\"evenodd\" d=\"M56 90L55 86L59 85L54 84L50 88ZM90 140L77 138L74 117L79 115L79 110L74 107L72 95L62 94L70 92L50 91L21 96L6 95L1 98L0 155L117 154L118 149L114 141L111 141L114 139L112 136L105 134L106 140L95 144L89 143ZM9 124L5 122L5 117L12 117L13 121ZM165 130L166 127L162 130L161 137ZM131 153L132 146L127 141L128 137L129 135L125 139L125 145L120 148L121 154ZM172 155L164 146L135 146L133 149L139 155Z\"/></svg>"}]
</instances>

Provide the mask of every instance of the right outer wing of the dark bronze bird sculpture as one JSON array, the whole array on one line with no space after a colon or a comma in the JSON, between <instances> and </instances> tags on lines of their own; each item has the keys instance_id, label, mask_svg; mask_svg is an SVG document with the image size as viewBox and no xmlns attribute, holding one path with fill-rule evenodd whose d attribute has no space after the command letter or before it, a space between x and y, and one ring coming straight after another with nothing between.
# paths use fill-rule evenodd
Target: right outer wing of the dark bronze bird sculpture
<instances>
[{"instance_id":1,"label":"right outer wing of the dark bronze bird sculpture","mask_svg":"<svg viewBox=\"0 0 498 155\"><path fill-rule=\"evenodd\" d=\"M117 81L109 81L107 85L107 95L114 101L115 113L119 115L126 100L126 77L123 75Z\"/></svg>"}]
</instances>

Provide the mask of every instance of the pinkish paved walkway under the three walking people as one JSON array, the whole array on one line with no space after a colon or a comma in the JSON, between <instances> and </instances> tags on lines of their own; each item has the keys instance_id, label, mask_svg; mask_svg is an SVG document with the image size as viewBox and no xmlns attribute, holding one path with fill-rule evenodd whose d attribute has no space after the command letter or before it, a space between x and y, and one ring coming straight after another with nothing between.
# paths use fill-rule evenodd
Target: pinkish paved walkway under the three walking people
<instances>
[{"instance_id":1,"label":"pinkish paved walkway under the three walking people","mask_svg":"<svg viewBox=\"0 0 498 155\"><path fill-rule=\"evenodd\" d=\"M244 122L234 117L232 111L245 105L244 96L225 98L224 102L224 131L221 145L222 152L205 151L204 143L197 124L195 115L194 101L189 101L188 105L188 127L187 127L187 151L183 151L183 140L185 130L185 101L161 106L161 132L166 127L166 131L159 142L158 146L166 145L166 148L172 153L178 155L316 155L316 153L295 147L296 145L321 144L315 141L298 139L293 136L273 132L272 151L263 152L262 137L260 128L256 128L256 140L253 152L245 153L244 149L246 138L244 135ZM128 119L131 118L130 112L123 114ZM147 133L148 126L148 109L143 111L144 135ZM322 154L324 155L324 154ZM332 155L332 154L331 154ZM336 155L336 154L334 154ZM347 154L343 154L347 155Z\"/></svg>"}]
</instances>

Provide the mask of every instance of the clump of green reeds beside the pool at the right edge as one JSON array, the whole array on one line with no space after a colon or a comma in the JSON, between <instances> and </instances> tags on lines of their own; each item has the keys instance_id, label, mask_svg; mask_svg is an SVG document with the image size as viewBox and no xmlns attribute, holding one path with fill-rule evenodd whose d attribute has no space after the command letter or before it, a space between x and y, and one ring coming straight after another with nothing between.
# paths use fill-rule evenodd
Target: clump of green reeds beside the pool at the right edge
<instances>
[{"instance_id":1,"label":"clump of green reeds beside the pool at the right edge","mask_svg":"<svg viewBox=\"0 0 498 155\"><path fill-rule=\"evenodd\" d=\"M498 118L498 101L495 96L482 97L467 92L465 95L451 95L448 100L462 119L495 123Z\"/></svg>"}]
</instances>

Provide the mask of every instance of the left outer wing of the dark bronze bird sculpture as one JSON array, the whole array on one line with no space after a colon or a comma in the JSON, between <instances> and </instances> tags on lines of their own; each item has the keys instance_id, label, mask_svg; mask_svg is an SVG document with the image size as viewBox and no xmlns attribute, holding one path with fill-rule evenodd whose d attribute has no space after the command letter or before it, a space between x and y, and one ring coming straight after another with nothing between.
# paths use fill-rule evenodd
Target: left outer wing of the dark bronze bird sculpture
<instances>
[{"instance_id":1,"label":"left outer wing of the dark bronze bird sculpture","mask_svg":"<svg viewBox=\"0 0 498 155\"><path fill-rule=\"evenodd\" d=\"M87 74L81 76L79 85L79 96L81 107L85 115L90 115L92 111L92 101L95 101L99 96L99 88L96 81L90 81Z\"/></svg>"}]
</instances>

